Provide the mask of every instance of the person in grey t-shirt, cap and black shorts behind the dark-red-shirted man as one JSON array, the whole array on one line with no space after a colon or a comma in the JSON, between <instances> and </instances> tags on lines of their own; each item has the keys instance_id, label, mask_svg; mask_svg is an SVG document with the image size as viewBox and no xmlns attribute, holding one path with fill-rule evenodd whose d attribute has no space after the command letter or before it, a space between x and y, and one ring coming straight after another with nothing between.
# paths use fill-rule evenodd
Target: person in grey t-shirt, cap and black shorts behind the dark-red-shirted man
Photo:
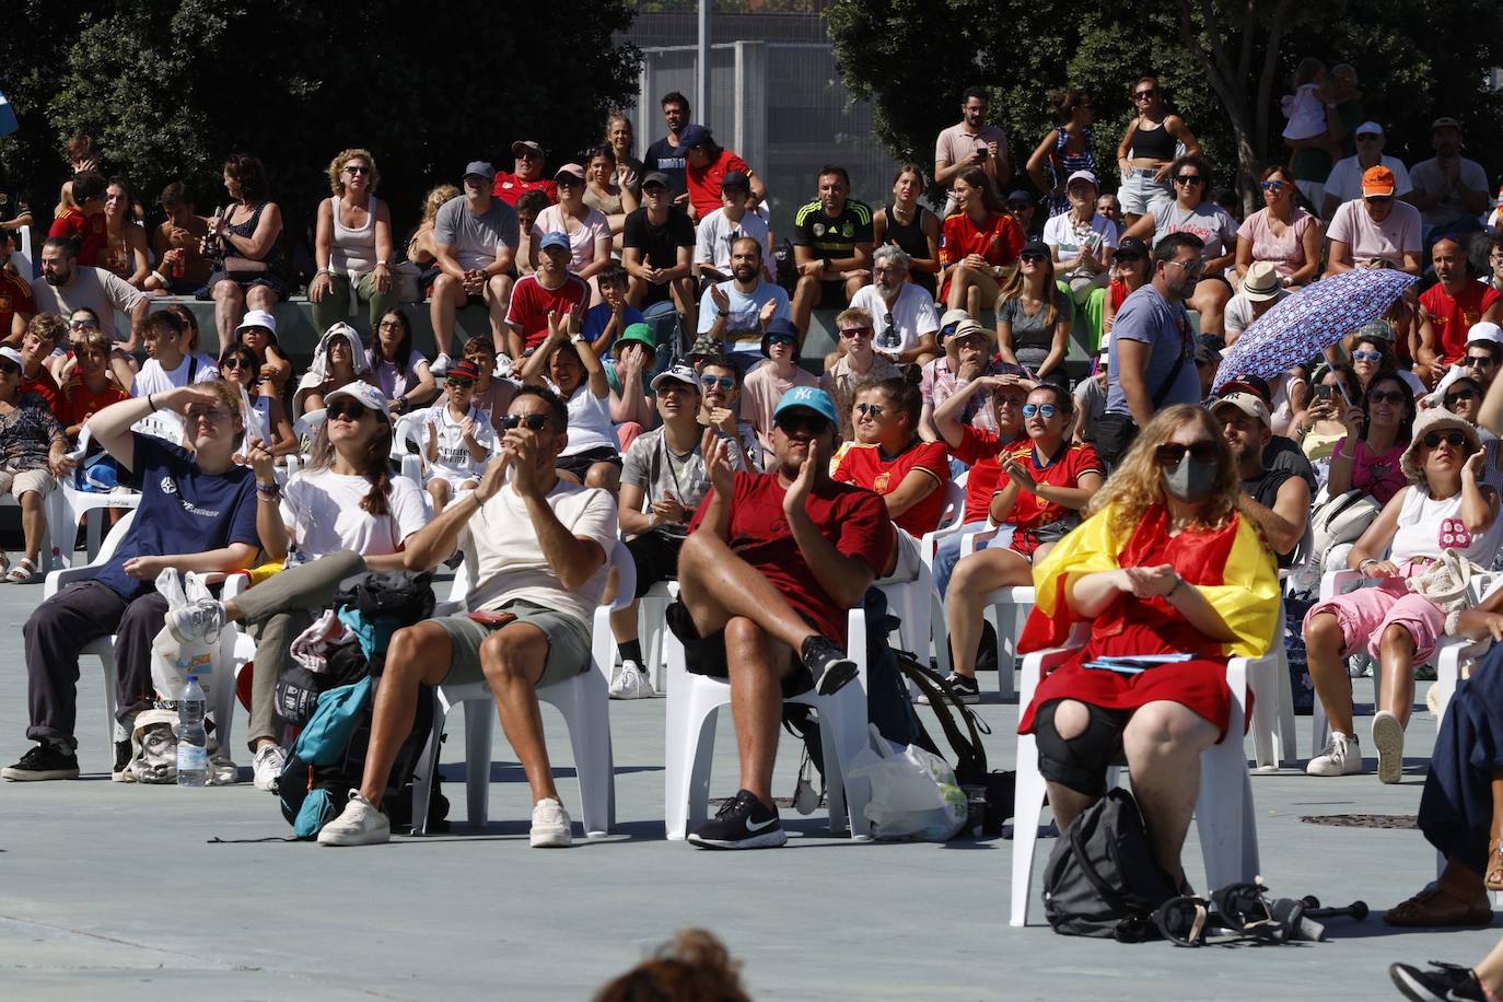
<instances>
[{"instance_id":1,"label":"person in grey t-shirt, cap and black shorts behind the dark-red-shirted man","mask_svg":"<svg viewBox=\"0 0 1503 1002\"><path fill-rule=\"evenodd\" d=\"M658 581L678 575L678 551L688 535L688 520L709 490L699 425L699 376L673 365L652 379L663 424L643 431L627 449L621 470L621 535L637 568L636 598ZM718 437L708 437L718 442ZM732 449L732 469L745 469ZM655 696L637 638L637 601L610 614L610 629L621 650L621 669L610 681L612 699Z\"/></svg>"}]
</instances>

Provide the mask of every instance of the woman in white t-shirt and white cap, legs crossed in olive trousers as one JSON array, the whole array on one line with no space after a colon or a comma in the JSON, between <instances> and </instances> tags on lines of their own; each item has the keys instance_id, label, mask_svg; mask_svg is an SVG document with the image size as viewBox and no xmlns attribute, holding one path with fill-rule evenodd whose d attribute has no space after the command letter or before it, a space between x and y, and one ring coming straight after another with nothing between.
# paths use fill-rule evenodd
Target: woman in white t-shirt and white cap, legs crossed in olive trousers
<instances>
[{"instance_id":1,"label":"woman in white t-shirt and white cap, legs crossed in olive trousers","mask_svg":"<svg viewBox=\"0 0 1503 1002\"><path fill-rule=\"evenodd\" d=\"M272 560L287 559L287 569L227 602L189 607L182 614L188 622L174 622L179 632L207 635L234 620L256 635L249 747L262 790L277 789L287 762L274 711L277 681L293 664L292 641L344 578L401 569L403 547L428 521L418 485L389 473L391 412L380 391L355 382L332 391L325 407L328 421L314 437L313 458L286 490L277 487L275 457L260 446L249 451L262 548Z\"/></svg>"}]
</instances>

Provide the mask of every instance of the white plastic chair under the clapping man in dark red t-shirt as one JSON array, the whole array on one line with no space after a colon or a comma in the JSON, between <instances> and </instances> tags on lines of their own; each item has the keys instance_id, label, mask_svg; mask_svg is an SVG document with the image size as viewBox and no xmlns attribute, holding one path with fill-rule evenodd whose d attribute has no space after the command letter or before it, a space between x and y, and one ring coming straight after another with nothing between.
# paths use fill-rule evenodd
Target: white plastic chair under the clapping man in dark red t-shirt
<instances>
[{"instance_id":1,"label":"white plastic chair under the clapping man in dark red t-shirt","mask_svg":"<svg viewBox=\"0 0 1503 1002\"><path fill-rule=\"evenodd\" d=\"M866 780L845 780L846 765L870 742L866 717L866 611L852 608L846 616L848 652L857 664L857 678L834 696L815 690L785 699L785 703L813 706L819 715L819 739L825 757L825 789L830 805L830 834L846 831L852 838L872 837L866 804L872 799ZM709 819L709 768L715 750L715 718L730 703L730 684L688 672L684 644L666 631L667 729L663 774L664 829L670 840L682 840L693 825ZM846 813L849 811L849 826Z\"/></svg>"}]
</instances>

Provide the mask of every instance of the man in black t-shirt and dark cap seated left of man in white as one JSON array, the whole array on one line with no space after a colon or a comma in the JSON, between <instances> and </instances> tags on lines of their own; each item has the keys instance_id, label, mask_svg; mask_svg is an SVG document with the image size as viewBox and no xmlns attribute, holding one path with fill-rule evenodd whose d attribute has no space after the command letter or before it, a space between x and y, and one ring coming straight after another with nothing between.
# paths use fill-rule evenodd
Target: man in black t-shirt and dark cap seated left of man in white
<instances>
[{"instance_id":1,"label":"man in black t-shirt and dark cap seated left of man in white","mask_svg":"<svg viewBox=\"0 0 1503 1002\"><path fill-rule=\"evenodd\" d=\"M627 302L637 309L672 296L684 315L687 330L694 330L694 224L688 213L672 203L663 171L648 171L642 179L643 206L627 216L621 234L621 263L630 275Z\"/></svg>"}]
</instances>

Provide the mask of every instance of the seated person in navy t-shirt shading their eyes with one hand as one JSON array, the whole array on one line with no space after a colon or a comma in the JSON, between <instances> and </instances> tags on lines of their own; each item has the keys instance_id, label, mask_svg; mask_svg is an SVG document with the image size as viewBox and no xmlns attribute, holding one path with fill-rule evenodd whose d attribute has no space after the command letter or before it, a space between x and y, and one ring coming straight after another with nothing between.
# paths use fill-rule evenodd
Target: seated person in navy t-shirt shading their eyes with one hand
<instances>
[{"instance_id":1,"label":"seated person in navy t-shirt shading their eyes with one hand","mask_svg":"<svg viewBox=\"0 0 1503 1002\"><path fill-rule=\"evenodd\" d=\"M131 431L140 419L162 412L186 424L192 452ZM225 383L179 386L105 407L87 427L119 464L122 484L141 491L141 502L114 556L26 620L26 736L38 745L0 769L0 778L12 783L78 778L78 655L111 634L119 724L111 778L126 781L135 715L155 699L152 640L167 613L156 575L167 568L234 574L251 566L262 545L256 475L231 458L245 431L237 389Z\"/></svg>"}]
</instances>

